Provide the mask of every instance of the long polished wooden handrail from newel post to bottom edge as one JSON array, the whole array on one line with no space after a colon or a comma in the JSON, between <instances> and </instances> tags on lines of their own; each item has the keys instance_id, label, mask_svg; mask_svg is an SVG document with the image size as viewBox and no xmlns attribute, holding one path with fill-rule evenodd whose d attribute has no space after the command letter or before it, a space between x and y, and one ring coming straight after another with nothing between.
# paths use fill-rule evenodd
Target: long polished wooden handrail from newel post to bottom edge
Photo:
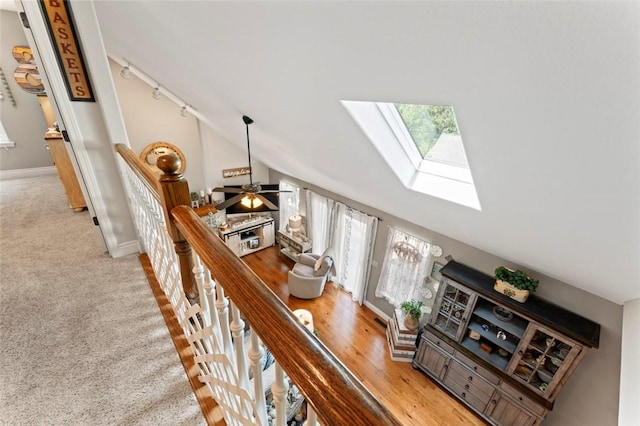
<instances>
[{"instance_id":1,"label":"long polished wooden handrail from newel post to bottom edge","mask_svg":"<svg viewBox=\"0 0 640 426\"><path fill-rule=\"evenodd\" d=\"M323 424L401 424L189 207L171 214Z\"/></svg>"}]
</instances>

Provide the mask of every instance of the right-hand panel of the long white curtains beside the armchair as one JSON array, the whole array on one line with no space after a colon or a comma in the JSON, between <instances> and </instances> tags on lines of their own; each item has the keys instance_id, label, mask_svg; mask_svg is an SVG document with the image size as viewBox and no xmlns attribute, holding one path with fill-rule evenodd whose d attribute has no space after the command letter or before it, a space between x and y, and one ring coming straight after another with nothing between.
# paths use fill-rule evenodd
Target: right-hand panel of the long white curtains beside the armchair
<instances>
[{"instance_id":1,"label":"right-hand panel of the long white curtains beside the armchair","mask_svg":"<svg viewBox=\"0 0 640 426\"><path fill-rule=\"evenodd\" d=\"M336 256L334 282L362 304L371 270L378 218L338 202L335 203L335 213L331 244Z\"/></svg>"}]
</instances>

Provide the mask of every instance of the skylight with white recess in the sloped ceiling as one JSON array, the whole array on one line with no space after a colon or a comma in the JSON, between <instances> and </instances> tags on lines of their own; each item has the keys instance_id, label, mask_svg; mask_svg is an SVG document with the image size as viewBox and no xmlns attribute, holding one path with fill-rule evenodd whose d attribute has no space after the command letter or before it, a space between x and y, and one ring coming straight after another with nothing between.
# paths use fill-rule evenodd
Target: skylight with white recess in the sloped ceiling
<instances>
[{"instance_id":1,"label":"skylight with white recess in the sloped ceiling","mask_svg":"<svg viewBox=\"0 0 640 426\"><path fill-rule=\"evenodd\" d=\"M480 210L451 106L342 104L407 188Z\"/></svg>"}]
</instances>

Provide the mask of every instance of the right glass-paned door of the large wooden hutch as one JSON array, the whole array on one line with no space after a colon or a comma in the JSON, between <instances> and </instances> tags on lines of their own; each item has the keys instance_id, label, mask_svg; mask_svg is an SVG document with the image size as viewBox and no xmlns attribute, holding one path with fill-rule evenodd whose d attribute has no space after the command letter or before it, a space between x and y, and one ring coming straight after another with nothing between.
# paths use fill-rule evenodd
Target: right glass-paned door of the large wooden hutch
<instances>
[{"instance_id":1,"label":"right glass-paned door of the large wooden hutch","mask_svg":"<svg viewBox=\"0 0 640 426\"><path fill-rule=\"evenodd\" d=\"M531 326L518 350L510 373L520 382L550 398L565 371L580 352L580 345L540 326Z\"/></svg>"}]
</instances>

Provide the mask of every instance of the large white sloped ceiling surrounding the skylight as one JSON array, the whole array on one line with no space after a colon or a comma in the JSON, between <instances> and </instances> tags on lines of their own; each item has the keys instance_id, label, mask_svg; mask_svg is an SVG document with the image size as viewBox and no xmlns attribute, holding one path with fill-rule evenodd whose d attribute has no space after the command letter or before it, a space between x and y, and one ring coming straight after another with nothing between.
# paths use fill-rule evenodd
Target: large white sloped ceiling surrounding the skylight
<instances>
[{"instance_id":1,"label":"large white sloped ceiling surrounding the skylight","mask_svg":"<svg viewBox=\"0 0 640 426\"><path fill-rule=\"evenodd\" d=\"M97 1L130 60L269 167L640 297L638 2ZM405 189L340 100L453 105L482 211Z\"/></svg>"}]
</instances>

